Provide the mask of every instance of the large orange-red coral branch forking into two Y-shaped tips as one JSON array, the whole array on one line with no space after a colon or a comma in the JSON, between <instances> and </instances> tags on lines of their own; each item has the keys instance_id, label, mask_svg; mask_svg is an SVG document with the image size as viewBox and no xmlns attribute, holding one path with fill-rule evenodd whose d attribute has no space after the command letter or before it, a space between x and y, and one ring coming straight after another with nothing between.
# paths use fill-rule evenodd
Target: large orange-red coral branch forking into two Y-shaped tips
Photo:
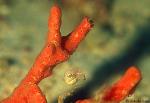
<instances>
[{"instance_id":1,"label":"large orange-red coral branch forking into two Y-shaped tips","mask_svg":"<svg viewBox=\"0 0 150 103\"><path fill-rule=\"evenodd\" d=\"M79 43L92 28L87 17L68 36L62 37L60 33L61 10L55 5L50 11L48 21L48 39L45 47L36 58L29 73L22 80L13 94L1 101L2 103L46 103L46 98L38 87L39 82L50 76L53 67L66 61L75 51Z\"/></svg>"}]
</instances>

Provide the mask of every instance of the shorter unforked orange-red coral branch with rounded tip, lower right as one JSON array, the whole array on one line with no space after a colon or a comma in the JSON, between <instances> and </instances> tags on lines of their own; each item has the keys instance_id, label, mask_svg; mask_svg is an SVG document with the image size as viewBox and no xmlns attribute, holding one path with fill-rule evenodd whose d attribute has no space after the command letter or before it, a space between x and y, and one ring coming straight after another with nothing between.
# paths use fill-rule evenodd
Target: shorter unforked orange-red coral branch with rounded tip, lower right
<instances>
[{"instance_id":1,"label":"shorter unforked orange-red coral branch with rounded tip, lower right","mask_svg":"<svg viewBox=\"0 0 150 103\"><path fill-rule=\"evenodd\" d=\"M124 76L117 81L111 88L107 89L101 100L96 100L96 103L119 103L127 97L141 80L139 69L132 66L128 68ZM76 103L95 103L95 100L84 99L78 100Z\"/></svg>"}]
</instances>

